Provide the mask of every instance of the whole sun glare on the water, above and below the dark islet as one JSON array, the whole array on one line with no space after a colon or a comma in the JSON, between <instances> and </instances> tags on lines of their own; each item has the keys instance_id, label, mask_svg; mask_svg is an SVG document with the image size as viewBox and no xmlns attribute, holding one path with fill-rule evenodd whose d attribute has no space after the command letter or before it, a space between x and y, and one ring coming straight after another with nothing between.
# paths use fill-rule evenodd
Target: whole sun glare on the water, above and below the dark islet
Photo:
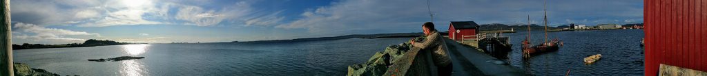
<instances>
[{"instance_id":1,"label":"whole sun glare on the water, above and below the dark islet","mask_svg":"<svg viewBox=\"0 0 707 76\"><path fill-rule=\"evenodd\" d=\"M129 44L123 45L123 50L125 53L132 56L140 55L145 53L146 49L150 46L149 44ZM147 75L145 65L138 60L127 60L120 61L120 75L123 76L142 76Z\"/></svg>"}]
</instances>

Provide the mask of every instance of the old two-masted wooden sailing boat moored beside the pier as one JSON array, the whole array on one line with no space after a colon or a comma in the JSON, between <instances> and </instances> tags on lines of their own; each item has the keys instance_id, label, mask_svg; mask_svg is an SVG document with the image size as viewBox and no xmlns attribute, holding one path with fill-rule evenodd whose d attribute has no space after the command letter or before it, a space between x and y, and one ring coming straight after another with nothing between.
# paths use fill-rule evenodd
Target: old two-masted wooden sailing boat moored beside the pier
<instances>
[{"instance_id":1,"label":"old two-masted wooden sailing boat moored beside the pier","mask_svg":"<svg viewBox=\"0 0 707 76\"><path fill-rule=\"evenodd\" d=\"M547 1L545 1L545 5L547 6ZM544 7L543 10L545 12L543 21L545 25L545 41L542 44L532 46L532 43L530 42L530 15L528 15L528 37L526 37L525 41L522 43L523 58L530 58L531 55L538 53L557 51L559 46L562 45L562 42L559 39L552 39L549 42L547 41L547 9Z\"/></svg>"}]
</instances>

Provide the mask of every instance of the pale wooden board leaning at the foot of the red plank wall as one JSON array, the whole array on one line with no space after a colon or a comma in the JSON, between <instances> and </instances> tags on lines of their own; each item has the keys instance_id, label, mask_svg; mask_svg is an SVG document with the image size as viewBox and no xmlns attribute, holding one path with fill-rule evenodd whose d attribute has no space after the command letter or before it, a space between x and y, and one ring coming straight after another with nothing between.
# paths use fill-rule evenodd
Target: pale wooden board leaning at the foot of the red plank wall
<instances>
[{"instance_id":1,"label":"pale wooden board leaning at the foot of the red plank wall","mask_svg":"<svg viewBox=\"0 0 707 76\"><path fill-rule=\"evenodd\" d=\"M689 68L680 68L673 65L660 64L660 76L707 76L707 72L692 70Z\"/></svg>"}]
</instances>

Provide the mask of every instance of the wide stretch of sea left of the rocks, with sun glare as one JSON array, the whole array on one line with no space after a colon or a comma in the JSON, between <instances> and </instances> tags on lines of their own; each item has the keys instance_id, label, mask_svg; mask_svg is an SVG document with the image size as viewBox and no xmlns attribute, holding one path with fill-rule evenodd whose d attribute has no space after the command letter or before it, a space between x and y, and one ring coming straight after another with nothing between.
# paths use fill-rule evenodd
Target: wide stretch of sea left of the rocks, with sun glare
<instances>
[{"instance_id":1,"label":"wide stretch of sea left of the rocks, with sun glare","mask_svg":"<svg viewBox=\"0 0 707 76\"><path fill-rule=\"evenodd\" d=\"M347 65L363 63L376 51L409 38L339 39L274 44L135 44L14 51L28 63L59 75L346 75ZM93 62L86 59L144 56Z\"/></svg>"}]
</instances>

